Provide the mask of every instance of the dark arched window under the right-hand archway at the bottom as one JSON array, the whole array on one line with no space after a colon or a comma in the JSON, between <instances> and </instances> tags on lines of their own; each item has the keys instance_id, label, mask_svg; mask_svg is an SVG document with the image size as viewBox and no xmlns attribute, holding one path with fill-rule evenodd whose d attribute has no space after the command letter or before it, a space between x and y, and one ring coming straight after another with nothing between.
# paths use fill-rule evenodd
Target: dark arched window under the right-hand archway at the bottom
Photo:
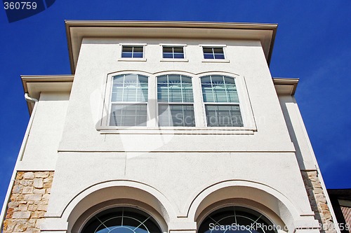
<instances>
[{"instance_id":1,"label":"dark arched window under the right-hand archway at the bottom","mask_svg":"<svg viewBox=\"0 0 351 233\"><path fill-rule=\"evenodd\" d=\"M198 233L277 233L268 218L244 207L225 207L210 213Z\"/></svg>"}]
</instances>

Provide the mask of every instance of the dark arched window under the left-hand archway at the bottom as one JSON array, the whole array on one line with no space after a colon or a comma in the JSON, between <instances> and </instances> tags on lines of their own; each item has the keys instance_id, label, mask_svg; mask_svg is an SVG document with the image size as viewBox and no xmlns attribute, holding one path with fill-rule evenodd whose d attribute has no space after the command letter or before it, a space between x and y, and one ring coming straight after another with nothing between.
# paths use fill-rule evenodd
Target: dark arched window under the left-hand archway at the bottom
<instances>
[{"instance_id":1,"label":"dark arched window under the left-hand archway at the bottom","mask_svg":"<svg viewBox=\"0 0 351 233\"><path fill-rule=\"evenodd\" d=\"M117 207L93 216L81 233L161 233L161 229L147 213L138 209Z\"/></svg>"}]
</instances>

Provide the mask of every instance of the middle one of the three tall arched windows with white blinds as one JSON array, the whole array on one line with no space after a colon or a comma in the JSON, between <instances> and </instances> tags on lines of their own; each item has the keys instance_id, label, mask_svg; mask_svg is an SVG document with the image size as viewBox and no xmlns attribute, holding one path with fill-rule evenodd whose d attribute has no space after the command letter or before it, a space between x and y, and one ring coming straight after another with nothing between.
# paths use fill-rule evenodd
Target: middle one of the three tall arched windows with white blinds
<instances>
[{"instance_id":1,"label":"middle one of the three tall arched windows with white blinds","mask_svg":"<svg viewBox=\"0 0 351 233\"><path fill-rule=\"evenodd\" d=\"M157 77L159 126L194 127L192 78L179 74Z\"/></svg>"}]
</instances>

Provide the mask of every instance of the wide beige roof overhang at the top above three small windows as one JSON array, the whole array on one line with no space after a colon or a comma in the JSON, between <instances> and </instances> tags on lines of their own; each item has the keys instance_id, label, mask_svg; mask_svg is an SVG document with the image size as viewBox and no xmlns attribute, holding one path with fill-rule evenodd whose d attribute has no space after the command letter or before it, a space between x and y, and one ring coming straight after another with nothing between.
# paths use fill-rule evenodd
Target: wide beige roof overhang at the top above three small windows
<instances>
[{"instance_id":1,"label":"wide beige roof overhang at the top above three small windows","mask_svg":"<svg viewBox=\"0 0 351 233\"><path fill-rule=\"evenodd\" d=\"M277 24L232 22L65 20L69 61L75 72L83 38L207 38L259 40L270 63Z\"/></svg>"}]
</instances>

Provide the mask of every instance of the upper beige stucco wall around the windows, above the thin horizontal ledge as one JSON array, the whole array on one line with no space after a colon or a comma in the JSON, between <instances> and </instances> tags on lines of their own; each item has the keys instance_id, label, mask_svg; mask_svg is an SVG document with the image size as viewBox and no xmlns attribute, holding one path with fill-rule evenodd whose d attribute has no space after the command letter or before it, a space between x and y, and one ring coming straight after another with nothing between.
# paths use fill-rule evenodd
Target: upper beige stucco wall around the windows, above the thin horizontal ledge
<instances>
[{"instance_id":1,"label":"upper beige stucco wall around the windows, above the thin horizontal ledge","mask_svg":"<svg viewBox=\"0 0 351 233\"><path fill-rule=\"evenodd\" d=\"M119 62L119 43L147 43L146 62ZM160 62L160 43L187 44L185 52L189 62ZM225 44L229 63L202 62L199 44ZM166 147L152 150L178 151L293 151L286 124L279 107L272 77L259 41L169 41L128 39L84 39L79 53L69 101L67 123L59 150L62 151L124 151L121 137L116 134L103 135L95 127L100 124L107 74L117 71L187 71L199 74L206 71L236 73L244 78L251 111L258 132L251 136L189 136L174 135ZM262 93L265 90L265 94ZM245 91L245 90L244 90ZM243 102L243 104L249 104ZM104 106L105 107L105 106ZM81 118L84 115L84 118ZM98 117L97 117L98 116ZM139 134L135 151L150 151L154 136ZM224 143L233 141L234 143ZM208 143L211 142L211 143ZM217 148L218 148L217 147Z\"/></svg>"}]
</instances>

